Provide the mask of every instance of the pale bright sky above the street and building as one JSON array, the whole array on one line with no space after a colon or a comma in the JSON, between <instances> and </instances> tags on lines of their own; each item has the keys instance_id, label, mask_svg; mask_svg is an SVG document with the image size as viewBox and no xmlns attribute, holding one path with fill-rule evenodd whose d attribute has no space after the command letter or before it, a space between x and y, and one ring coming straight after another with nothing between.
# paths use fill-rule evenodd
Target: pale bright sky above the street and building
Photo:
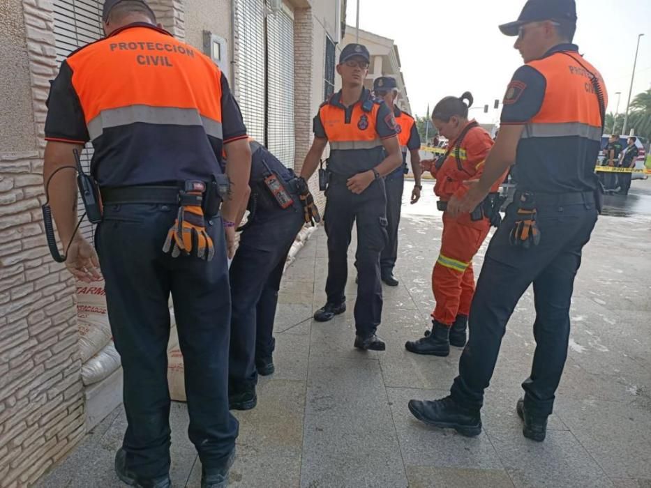
<instances>
[{"instance_id":1,"label":"pale bright sky above the street and building","mask_svg":"<svg viewBox=\"0 0 651 488\"><path fill-rule=\"evenodd\" d=\"M355 25L357 0L347 0L348 25ZM523 63L515 38L497 26L518 18L525 0L359 0L359 28L391 38L398 46L414 115L425 115L444 96L470 91L470 112L481 123L496 122L514 71ZM626 109L638 34L641 38L633 97L651 88L651 1L576 0L574 43L604 76L608 112ZM349 31L354 33L354 29ZM483 107L490 110L484 114ZM501 106L501 105L500 105Z\"/></svg>"}]
</instances>

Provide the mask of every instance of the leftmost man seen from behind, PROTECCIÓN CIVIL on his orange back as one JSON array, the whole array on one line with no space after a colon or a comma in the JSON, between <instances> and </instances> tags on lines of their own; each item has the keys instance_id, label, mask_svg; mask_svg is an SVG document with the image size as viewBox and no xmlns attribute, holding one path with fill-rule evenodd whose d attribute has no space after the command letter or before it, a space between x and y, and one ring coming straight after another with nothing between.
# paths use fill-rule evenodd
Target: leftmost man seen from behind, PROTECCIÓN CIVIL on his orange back
<instances>
[{"instance_id":1,"label":"leftmost man seen from behind, PROTECCI\u00d3N CIVIL on his orange back","mask_svg":"<svg viewBox=\"0 0 651 488\"><path fill-rule=\"evenodd\" d=\"M115 468L129 485L170 486L171 293L202 487L224 487L238 432L227 397L227 254L250 171L246 128L225 76L158 29L144 1L107 0L103 21L106 38L71 54L52 82L43 172L74 166L73 148L92 142L91 174L103 198L95 245L128 420ZM230 192L217 191L223 150ZM70 210L74 171L54 179L59 236L72 241L66 266L78 279L96 278L97 256L75 233Z\"/></svg>"}]
</instances>

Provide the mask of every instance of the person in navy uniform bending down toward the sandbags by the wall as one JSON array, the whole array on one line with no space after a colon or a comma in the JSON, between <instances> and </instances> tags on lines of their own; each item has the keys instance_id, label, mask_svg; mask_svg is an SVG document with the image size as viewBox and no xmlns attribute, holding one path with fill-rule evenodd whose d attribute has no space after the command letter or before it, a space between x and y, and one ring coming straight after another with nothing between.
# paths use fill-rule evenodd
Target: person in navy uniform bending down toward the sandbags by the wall
<instances>
[{"instance_id":1,"label":"person in navy uniform bending down toward the sandbags by the wall","mask_svg":"<svg viewBox=\"0 0 651 488\"><path fill-rule=\"evenodd\" d=\"M232 410L253 409L258 374L268 376L275 370L274 319L280 280L294 238L306 223L301 195L312 198L306 181L297 178L262 144L253 139L249 144L249 214L229 272L232 318L228 399ZM269 178L284 189L280 201L270 191Z\"/></svg>"}]
</instances>

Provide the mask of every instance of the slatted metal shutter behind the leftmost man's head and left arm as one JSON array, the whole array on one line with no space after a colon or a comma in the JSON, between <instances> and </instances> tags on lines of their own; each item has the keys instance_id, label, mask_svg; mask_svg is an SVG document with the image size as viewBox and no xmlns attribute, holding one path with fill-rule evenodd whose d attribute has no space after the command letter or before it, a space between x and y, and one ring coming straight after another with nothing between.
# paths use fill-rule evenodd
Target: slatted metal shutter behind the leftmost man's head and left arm
<instances>
[{"instance_id":1,"label":"slatted metal shutter behind the leftmost man's head and left arm","mask_svg":"<svg viewBox=\"0 0 651 488\"><path fill-rule=\"evenodd\" d=\"M57 63L66 59L70 52L92 43L104 36L102 29L102 5L96 0L54 0L54 47ZM90 171L93 146L86 144L82 153L82 167ZM84 205L77 201L77 213L82 216ZM93 224L85 220L80 231L84 238L93 241Z\"/></svg>"}]
</instances>

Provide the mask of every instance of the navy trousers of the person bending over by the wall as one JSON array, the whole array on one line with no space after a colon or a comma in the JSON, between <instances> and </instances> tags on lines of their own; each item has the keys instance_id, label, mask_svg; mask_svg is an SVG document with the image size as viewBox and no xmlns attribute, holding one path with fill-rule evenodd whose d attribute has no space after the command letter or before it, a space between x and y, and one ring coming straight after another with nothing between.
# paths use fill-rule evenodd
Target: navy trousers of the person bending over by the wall
<instances>
[{"instance_id":1,"label":"navy trousers of the person bending over by the wall","mask_svg":"<svg viewBox=\"0 0 651 488\"><path fill-rule=\"evenodd\" d=\"M278 289L287 254L305 223L299 198L294 204L258 208L242 231L230 266L232 298L230 370L231 387L257 383L255 358L274 352L274 319Z\"/></svg>"}]
</instances>

